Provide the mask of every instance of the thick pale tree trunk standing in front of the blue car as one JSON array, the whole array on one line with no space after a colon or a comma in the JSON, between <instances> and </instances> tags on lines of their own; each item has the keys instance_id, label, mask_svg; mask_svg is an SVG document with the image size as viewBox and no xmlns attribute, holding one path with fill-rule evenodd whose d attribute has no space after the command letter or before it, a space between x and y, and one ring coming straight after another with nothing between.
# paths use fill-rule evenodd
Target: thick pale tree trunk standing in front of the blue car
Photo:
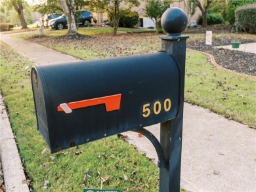
<instances>
[{"instance_id":1,"label":"thick pale tree trunk standing in front of the blue car","mask_svg":"<svg viewBox=\"0 0 256 192\"><path fill-rule=\"evenodd\" d=\"M64 14L66 15L68 22L68 33L67 35L77 34L77 27L75 25L75 1L74 0L58 0Z\"/></svg>"}]
</instances>

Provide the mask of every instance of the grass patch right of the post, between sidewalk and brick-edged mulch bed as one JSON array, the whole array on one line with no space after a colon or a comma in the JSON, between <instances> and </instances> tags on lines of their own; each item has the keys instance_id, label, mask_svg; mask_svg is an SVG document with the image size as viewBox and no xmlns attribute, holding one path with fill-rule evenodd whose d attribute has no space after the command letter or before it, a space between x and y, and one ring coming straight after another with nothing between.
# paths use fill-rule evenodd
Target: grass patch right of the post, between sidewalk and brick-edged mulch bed
<instances>
[{"instance_id":1,"label":"grass patch right of the post, between sidewalk and brick-edged mulch bed","mask_svg":"<svg viewBox=\"0 0 256 192\"><path fill-rule=\"evenodd\" d=\"M256 126L256 79L217 69L196 51L187 52L185 100Z\"/></svg>"}]
</instances>

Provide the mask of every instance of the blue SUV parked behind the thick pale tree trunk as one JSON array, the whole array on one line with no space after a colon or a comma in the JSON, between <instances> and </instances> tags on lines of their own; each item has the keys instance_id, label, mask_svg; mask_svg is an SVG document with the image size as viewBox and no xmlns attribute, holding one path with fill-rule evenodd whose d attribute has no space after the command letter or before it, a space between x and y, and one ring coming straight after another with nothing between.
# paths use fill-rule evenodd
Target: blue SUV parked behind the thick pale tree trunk
<instances>
[{"instance_id":1,"label":"blue SUV parked behind the thick pale tree trunk","mask_svg":"<svg viewBox=\"0 0 256 192\"><path fill-rule=\"evenodd\" d=\"M79 10L75 12L75 21L78 21L79 26L91 24L93 20L93 14L88 10ZM54 18L49 21L49 27L53 29L64 29L68 28L68 22L66 16L63 14L58 18Z\"/></svg>"}]
</instances>

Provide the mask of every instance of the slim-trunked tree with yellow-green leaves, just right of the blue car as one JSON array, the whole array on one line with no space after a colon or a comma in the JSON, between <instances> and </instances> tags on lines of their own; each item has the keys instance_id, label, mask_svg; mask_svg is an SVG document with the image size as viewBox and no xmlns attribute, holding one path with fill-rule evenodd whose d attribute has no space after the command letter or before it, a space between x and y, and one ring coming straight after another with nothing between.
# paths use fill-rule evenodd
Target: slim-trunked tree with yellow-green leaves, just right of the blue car
<instances>
[{"instance_id":1,"label":"slim-trunked tree with yellow-green leaves, just right of the blue car","mask_svg":"<svg viewBox=\"0 0 256 192\"><path fill-rule=\"evenodd\" d=\"M98 0L91 2L91 10L107 12L113 18L113 36L117 34L117 28L120 19L120 3L124 2L129 8L133 6L139 6L140 3L138 0Z\"/></svg>"}]
</instances>

